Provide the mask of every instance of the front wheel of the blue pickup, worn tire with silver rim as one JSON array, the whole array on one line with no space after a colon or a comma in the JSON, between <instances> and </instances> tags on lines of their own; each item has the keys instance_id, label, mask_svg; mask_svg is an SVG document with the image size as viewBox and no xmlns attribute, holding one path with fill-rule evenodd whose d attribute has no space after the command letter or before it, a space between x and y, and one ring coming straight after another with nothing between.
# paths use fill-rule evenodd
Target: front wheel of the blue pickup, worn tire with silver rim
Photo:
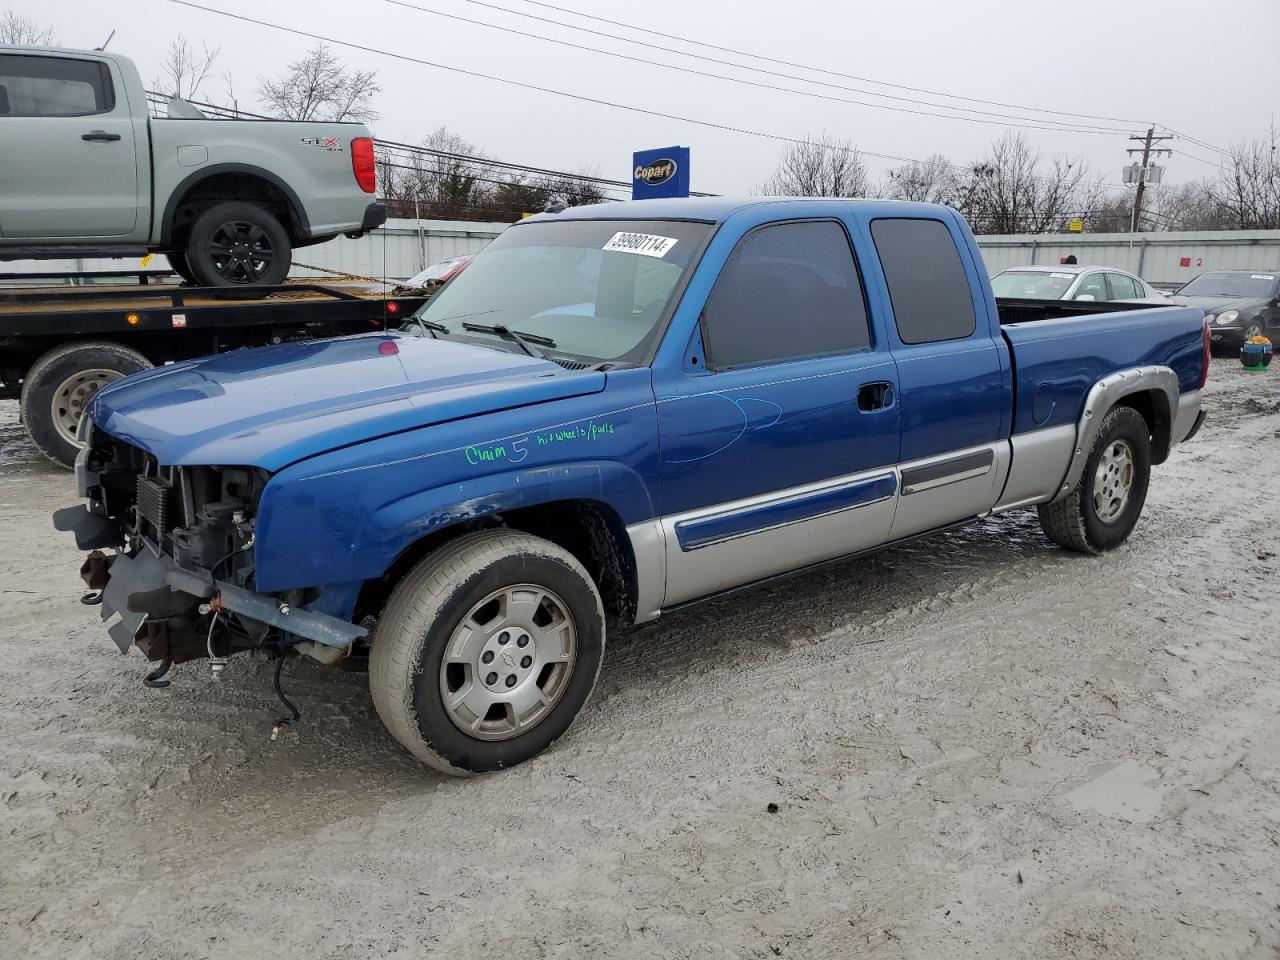
<instances>
[{"instance_id":1,"label":"front wheel of the blue pickup, worn tire with silver rim","mask_svg":"<svg viewBox=\"0 0 1280 960\"><path fill-rule=\"evenodd\" d=\"M399 582L374 631L369 682L387 730L454 776L513 767L573 722L604 658L590 575L553 543L485 530Z\"/></svg>"}]
</instances>

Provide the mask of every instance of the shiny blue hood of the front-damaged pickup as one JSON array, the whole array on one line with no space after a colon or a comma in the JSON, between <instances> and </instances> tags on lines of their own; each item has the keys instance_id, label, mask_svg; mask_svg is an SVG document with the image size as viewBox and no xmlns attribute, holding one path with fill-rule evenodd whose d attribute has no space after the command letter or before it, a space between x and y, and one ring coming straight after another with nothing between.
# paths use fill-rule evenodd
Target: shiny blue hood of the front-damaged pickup
<instances>
[{"instance_id":1,"label":"shiny blue hood of the front-damaged pickup","mask_svg":"<svg viewBox=\"0 0 1280 960\"><path fill-rule=\"evenodd\" d=\"M598 393L605 376L399 333L284 343L156 367L93 398L93 424L164 465L276 471L376 436Z\"/></svg>"}]
</instances>

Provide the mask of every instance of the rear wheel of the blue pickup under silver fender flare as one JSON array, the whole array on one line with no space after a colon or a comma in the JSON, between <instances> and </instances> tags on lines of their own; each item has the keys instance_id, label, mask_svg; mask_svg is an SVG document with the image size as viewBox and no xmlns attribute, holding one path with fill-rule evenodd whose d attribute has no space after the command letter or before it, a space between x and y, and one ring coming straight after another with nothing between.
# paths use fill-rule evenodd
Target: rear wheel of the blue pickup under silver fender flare
<instances>
[{"instance_id":1,"label":"rear wheel of the blue pickup under silver fender flare","mask_svg":"<svg viewBox=\"0 0 1280 960\"><path fill-rule=\"evenodd\" d=\"M1041 527L1050 540L1078 553L1102 553L1133 532L1147 502L1151 434L1133 407L1112 407L1084 462L1075 489L1042 503Z\"/></svg>"}]
</instances>

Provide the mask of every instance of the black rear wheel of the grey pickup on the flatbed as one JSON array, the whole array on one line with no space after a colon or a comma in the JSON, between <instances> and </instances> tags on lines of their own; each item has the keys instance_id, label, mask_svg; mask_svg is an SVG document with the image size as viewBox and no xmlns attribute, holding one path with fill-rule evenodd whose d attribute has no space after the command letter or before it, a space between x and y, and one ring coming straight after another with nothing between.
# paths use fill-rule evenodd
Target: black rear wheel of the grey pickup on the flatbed
<instances>
[{"instance_id":1,"label":"black rear wheel of the grey pickup on the flatbed","mask_svg":"<svg viewBox=\"0 0 1280 960\"><path fill-rule=\"evenodd\" d=\"M200 287L275 285L289 273L293 247L280 221L257 204L228 202L196 218L183 251Z\"/></svg>"}]
</instances>

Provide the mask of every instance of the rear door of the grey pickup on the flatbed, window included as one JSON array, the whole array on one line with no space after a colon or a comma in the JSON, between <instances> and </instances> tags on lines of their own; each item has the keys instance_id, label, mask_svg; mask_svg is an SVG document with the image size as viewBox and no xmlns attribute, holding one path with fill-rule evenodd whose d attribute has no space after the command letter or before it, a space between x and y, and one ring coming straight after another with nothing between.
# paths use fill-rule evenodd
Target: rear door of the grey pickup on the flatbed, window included
<instances>
[{"instance_id":1,"label":"rear door of the grey pickup on the flatbed, window included","mask_svg":"<svg viewBox=\"0 0 1280 960\"><path fill-rule=\"evenodd\" d=\"M0 236L127 237L138 224L137 134L101 61L0 54ZM145 143L143 143L145 146Z\"/></svg>"}]
</instances>

